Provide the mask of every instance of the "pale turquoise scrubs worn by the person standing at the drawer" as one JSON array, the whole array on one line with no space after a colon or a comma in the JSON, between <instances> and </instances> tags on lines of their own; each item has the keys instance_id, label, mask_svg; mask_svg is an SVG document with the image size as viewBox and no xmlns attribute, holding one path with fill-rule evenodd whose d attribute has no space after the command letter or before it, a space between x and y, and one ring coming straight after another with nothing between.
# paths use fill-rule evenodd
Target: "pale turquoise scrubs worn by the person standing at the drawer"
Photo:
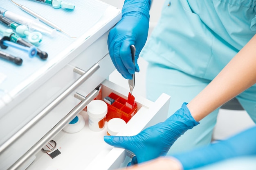
<instances>
[{"instance_id":1,"label":"pale turquoise scrubs worn by the person standing at the drawer","mask_svg":"<svg viewBox=\"0 0 256 170\"><path fill-rule=\"evenodd\" d=\"M147 98L170 95L168 116L194 98L255 35L255 11L255 0L166 0L140 54L149 63ZM237 98L256 122L256 85ZM217 115L188 130L169 153L209 144Z\"/></svg>"}]
</instances>

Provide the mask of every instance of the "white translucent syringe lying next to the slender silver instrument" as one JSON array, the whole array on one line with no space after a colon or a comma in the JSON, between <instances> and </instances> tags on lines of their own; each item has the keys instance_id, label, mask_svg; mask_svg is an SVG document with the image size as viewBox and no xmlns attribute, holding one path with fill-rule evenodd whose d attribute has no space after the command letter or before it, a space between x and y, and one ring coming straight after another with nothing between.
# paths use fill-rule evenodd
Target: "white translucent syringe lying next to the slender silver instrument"
<instances>
[{"instance_id":1,"label":"white translucent syringe lying next to the slender silver instrument","mask_svg":"<svg viewBox=\"0 0 256 170\"><path fill-rule=\"evenodd\" d=\"M54 37L54 35L56 34L55 29L49 28L43 24L39 24L38 19L31 20L27 17L23 17L22 15L18 15L11 11L7 11L1 7L0 7L0 14L2 14L4 17L7 17L9 20L13 22L27 26L30 31L37 30L37 31L40 31L41 33L51 35L52 37Z\"/></svg>"}]
</instances>

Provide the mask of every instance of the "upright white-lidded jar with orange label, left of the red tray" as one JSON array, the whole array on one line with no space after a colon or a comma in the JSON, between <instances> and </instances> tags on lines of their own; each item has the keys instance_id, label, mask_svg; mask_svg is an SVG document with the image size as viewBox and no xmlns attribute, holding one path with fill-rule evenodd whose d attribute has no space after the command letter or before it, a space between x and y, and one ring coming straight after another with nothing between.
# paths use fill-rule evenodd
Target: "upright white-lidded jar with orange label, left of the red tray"
<instances>
[{"instance_id":1,"label":"upright white-lidded jar with orange label, left of the red tray","mask_svg":"<svg viewBox=\"0 0 256 170\"><path fill-rule=\"evenodd\" d=\"M104 129L107 112L108 106L102 100L92 100L87 105L89 128L92 131L101 131Z\"/></svg>"}]
</instances>

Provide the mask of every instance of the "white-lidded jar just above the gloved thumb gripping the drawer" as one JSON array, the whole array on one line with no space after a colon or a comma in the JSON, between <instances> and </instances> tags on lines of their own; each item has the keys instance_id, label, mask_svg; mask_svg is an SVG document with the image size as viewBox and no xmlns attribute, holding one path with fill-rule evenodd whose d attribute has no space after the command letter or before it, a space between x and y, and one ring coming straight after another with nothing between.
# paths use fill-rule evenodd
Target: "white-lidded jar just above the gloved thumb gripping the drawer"
<instances>
[{"instance_id":1,"label":"white-lidded jar just above the gloved thumb gripping the drawer","mask_svg":"<svg viewBox=\"0 0 256 170\"><path fill-rule=\"evenodd\" d=\"M125 125L126 122L123 119L112 118L108 121L107 134L115 136L119 131L121 131L124 128Z\"/></svg>"}]
</instances>

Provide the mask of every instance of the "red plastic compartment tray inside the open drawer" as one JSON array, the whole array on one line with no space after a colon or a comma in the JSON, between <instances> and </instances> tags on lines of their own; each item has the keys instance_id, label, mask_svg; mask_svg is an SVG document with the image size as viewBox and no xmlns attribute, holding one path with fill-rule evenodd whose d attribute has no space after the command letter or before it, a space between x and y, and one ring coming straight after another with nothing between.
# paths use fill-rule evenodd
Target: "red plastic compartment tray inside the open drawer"
<instances>
[{"instance_id":1,"label":"red plastic compartment tray inside the open drawer","mask_svg":"<svg viewBox=\"0 0 256 170\"><path fill-rule=\"evenodd\" d=\"M112 105L108 104L108 113L106 115L106 121L108 122L112 118L121 118L126 123L137 112L137 104L135 103L133 108L127 106L127 100L118 96L117 94L110 93L108 97L115 100Z\"/></svg>"}]
</instances>

